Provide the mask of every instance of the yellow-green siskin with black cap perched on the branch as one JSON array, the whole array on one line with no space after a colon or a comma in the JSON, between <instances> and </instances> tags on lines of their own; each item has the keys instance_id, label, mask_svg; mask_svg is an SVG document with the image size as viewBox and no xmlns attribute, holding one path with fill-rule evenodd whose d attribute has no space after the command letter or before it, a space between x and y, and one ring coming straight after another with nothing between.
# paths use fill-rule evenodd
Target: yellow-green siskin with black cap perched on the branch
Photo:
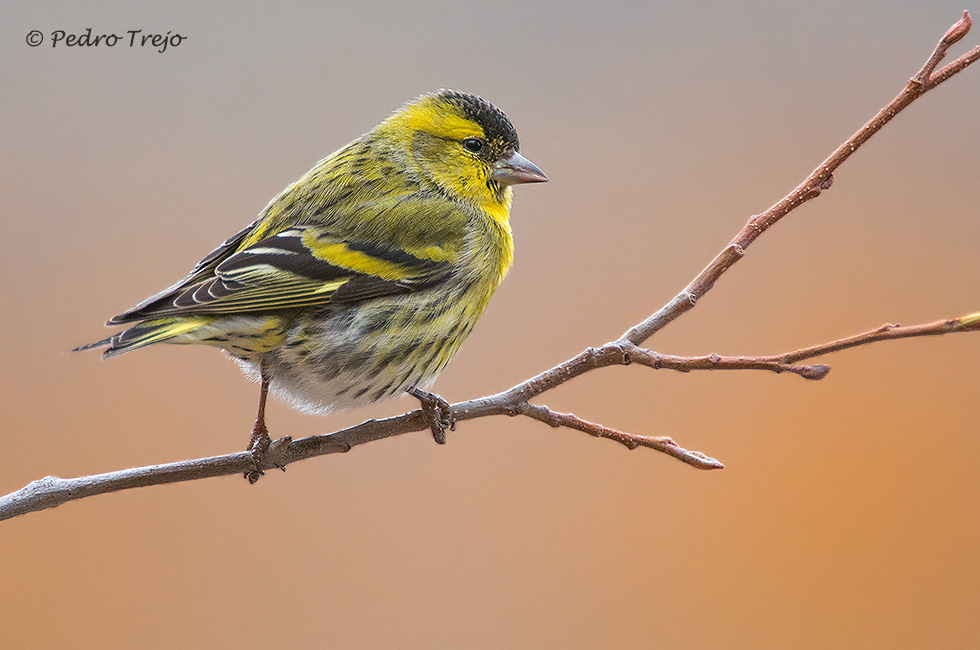
<instances>
[{"instance_id":1,"label":"yellow-green siskin with black cap perched on the branch","mask_svg":"<svg viewBox=\"0 0 980 650\"><path fill-rule=\"evenodd\" d=\"M434 396L421 389L513 260L511 186L548 180L519 147L486 100L423 95L320 161L185 279L107 323L135 325L73 351L221 348L261 381L258 453L269 390L317 414L405 391L425 404Z\"/></svg>"}]
</instances>

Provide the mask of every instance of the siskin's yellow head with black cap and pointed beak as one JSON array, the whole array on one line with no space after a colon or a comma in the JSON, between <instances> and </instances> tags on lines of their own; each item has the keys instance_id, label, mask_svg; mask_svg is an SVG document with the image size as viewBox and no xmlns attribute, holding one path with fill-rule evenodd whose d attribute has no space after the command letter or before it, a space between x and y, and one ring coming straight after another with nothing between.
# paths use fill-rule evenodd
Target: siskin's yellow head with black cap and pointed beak
<instances>
[{"instance_id":1,"label":"siskin's yellow head with black cap and pointed beak","mask_svg":"<svg viewBox=\"0 0 980 650\"><path fill-rule=\"evenodd\" d=\"M548 180L519 153L517 131L503 111L476 95L456 90L423 95L380 128L406 147L427 180L485 208L509 208L511 185Z\"/></svg>"}]
</instances>

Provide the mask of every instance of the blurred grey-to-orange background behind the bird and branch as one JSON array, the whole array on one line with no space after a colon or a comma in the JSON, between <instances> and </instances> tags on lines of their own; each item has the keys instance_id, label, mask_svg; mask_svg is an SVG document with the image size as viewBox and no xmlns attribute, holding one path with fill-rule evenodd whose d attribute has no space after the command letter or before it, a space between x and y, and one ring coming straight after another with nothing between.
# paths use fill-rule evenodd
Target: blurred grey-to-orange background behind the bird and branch
<instances>
[{"instance_id":1,"label":"blurred grey-to-orange background behind the bird and branch","mask_svg":"<svg viewBox=\"0 0 980 650\"><path fill-rule=\"evenodd\" d=\"M403 102L479 93L551 178L435 385L615 339L894 97L972 0L5 2L0 492L244 448L212 349L66 355ZM171 31L156 48L50 46ZM44 42L25 38L40 30ZM954 55L980 42L980 29ZM649 345L774 354L980 310L980 68L924 97ZM464 422L0 523L10 648L980 648L980 338L820 382L609 368L539 401L726 464ZM274 436L329 418L270 405Z\"/></svg>"}]
</instances>

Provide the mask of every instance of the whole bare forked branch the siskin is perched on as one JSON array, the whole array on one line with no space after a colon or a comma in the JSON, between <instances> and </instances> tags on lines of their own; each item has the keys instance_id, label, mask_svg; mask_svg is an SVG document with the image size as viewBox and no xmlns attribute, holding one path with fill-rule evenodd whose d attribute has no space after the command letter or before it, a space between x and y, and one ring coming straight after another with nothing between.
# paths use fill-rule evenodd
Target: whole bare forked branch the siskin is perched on
<instances>
[{"instance_id":1,"label":"whole bare forked branch the siskin is perched on","mask_svg":"<svg viewBox=\"0 0 980 650\"><path fill-rule=\"evenodd\" d=\"M941 320L909 327L883 325L875 330L849 338L768 357L723 357L715 354L700 357L678 357L639 347L665 325L694 307L697 300L707 293L735 262L742 258L748 246L763 232L803 203L816 198L823 190L830 188L834 171L895 115L927 91L962 72L980 59L980 46L978 46L935 72L936 67L945 57L946 51L967 34L971 24L969 14L964 12L963 18L946 32L926 64L911 78L905 89L891 103L879 111L870 122L821 163L795 190L766 212L752 217L731 243L668 304L642 323L630 328L613 343L608 343L600 348L588 348L568 361L504 392L452 405L450 408L455 420L470 420L490 415L525 416L545 422L553 427L575 429L600 438L615 440L630 449L648 447L669 454L698 469L720 469L723 465L717 460L701 452L686 450L671 438L641 436L617 431L588 422L575 415L551 411L545 406L531 403L530 400L591 370L611 365L628 365L631 362L637 362L654 369L670 369L682 372L748 369L769 370L777 373L790 372L806 379L818 380L827 375L830 371L829 366L799 366L796 363L830 352L888 339L936 336L980 330L980 313L977 313L958 319ZM289 437L282 438L275 441L269 450L258 458L252 453L240 452L74 479L49 476L34 481L17 492L0 497L0 520L106 492L214 476L247 474L256 469L282 468L289 463L306 458L347 452L353 447L367 442L412 431L424 431L429 428L430 422L422 410L417 410L384 420L369 420L332 434L310 436L300 440L292 440Z\"/></svg>"}]
</instances>

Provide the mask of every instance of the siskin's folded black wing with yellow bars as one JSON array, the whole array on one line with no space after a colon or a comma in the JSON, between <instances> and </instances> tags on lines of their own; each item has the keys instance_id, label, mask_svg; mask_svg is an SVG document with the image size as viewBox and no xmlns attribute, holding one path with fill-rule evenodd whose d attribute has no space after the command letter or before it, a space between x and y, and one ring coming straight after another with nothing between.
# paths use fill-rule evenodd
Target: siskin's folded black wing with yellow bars
<instances>
[{"instance_id":1,"label":"siskin's folded black wing with yellow bars","mask_svg":"<svg viewBox=\"0 0 980 650\"><path fill-rule=\"evenodd\" d=\"M241 314L408 293L452 276L458 250L388 246L324 226L287 228L237 252L245 229L204 258L187 280L110 324L195 314Z\"/></svg>"}]
</instances>

